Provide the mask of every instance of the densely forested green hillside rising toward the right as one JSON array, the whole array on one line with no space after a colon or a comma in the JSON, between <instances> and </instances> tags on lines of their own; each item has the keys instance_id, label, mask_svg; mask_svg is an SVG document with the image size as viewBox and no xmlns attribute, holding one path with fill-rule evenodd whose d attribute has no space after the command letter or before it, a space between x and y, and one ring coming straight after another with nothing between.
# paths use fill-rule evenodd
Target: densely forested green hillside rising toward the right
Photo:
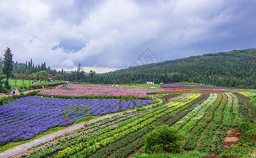
<instances>
[{"instance_id":1,"label":"densely forested green hillside rising toward the right","mask_svg":"<svg viewBox=\"0 0 256 158\"><path fill-rule=\"evenodd\" d=\"M256 88L256 49L233 50L98 74L96 83L177 83Z\"/></svg>"}]
</instances>

